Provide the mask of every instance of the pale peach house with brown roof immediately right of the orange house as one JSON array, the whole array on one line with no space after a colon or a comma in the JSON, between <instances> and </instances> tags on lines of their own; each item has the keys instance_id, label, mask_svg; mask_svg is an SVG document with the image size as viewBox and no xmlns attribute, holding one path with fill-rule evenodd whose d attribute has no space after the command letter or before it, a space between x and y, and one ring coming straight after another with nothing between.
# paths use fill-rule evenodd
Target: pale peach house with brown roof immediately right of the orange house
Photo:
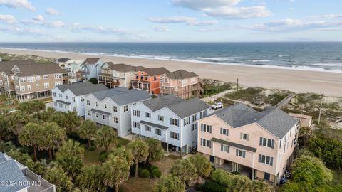
<instances>
[{"instance_id":1,"label":"pale peach house with brown roof immediately right of the orange house","mask_svg":"<svg viewBox=\"0 0 342 192\"><path fill-rule=\"evenodd\" d=\"M160 94L177 95L183 100L199 95L199 78L196 73L176 70L160 75Z\"/></svg>"}]
</instances>

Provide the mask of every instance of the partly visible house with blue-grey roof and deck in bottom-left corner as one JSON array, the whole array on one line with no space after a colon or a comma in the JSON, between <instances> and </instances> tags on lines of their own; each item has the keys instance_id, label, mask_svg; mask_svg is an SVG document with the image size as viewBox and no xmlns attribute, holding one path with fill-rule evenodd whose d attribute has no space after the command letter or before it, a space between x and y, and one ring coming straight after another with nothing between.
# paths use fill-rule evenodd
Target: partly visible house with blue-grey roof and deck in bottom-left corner
<instances>
[{"instance_id":1,"label":"partly visible house with blue-grey roof and deck in bottom-left corner","mask_svg":"<svg viewBox=\"0 0 342 192\"><path fill-rule=\"evenodd\" d=\"M56 192L56 186L38 176L27 166L0 152L0 191L4 192Z\"/></svg>"}]
</instances>

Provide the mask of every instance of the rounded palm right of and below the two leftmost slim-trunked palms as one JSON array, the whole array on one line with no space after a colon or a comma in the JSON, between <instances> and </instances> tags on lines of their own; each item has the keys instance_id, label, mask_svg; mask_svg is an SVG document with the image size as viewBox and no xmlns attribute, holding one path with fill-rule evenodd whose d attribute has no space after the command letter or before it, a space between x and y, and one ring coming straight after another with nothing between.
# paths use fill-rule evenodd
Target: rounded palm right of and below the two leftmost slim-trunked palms
<instances>
[{"instance_id":1,"label":"rounded palm right of and below the two leftmost slim-trunked palms","mask_svg":"<svg viewBox=\"0 0 342 192\"><path fill-rule=\"evenodd\" d=\"M56 152L56 161L69 176L76 176L83 167L84 149L80 143L69 139Z\"/></svg>"}]
</instances>

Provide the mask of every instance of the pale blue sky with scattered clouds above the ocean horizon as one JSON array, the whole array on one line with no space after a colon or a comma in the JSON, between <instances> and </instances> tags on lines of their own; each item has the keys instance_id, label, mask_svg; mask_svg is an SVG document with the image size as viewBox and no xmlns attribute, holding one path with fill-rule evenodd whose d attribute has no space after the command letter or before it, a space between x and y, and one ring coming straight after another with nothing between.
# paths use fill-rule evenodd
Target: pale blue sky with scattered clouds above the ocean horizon
<instances>
[{"instance_id":1,"label":"pale blue sky with scattered clouds above the ocean horizon","mask_svg":"<svg viewBox=\"0 0 342 192\"><path fill-rule=\"evenodd\" d=\"M341 0L0 0L0 42L342 41Z\"/></svg>"}]
</instances>

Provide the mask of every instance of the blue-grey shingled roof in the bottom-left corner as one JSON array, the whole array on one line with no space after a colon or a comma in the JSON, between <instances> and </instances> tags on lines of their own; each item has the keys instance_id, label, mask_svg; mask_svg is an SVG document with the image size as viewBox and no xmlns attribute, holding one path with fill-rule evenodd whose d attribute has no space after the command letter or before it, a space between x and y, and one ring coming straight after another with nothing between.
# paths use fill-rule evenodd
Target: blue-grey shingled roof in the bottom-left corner
<instances>
[{"instance_id":1,"label":"blue-grey shingled roof in the bottom-left corner","mask_svg":"<svg viewBox=\"0 0 342 192\"><path fill-rule=\"evenodd\" d=\"M10 182L9 185L0 185L0 191L16 192L29 187L26 177L14 160L1 162L0 170L0 181Z\"/></svg>"}]
</instances>

